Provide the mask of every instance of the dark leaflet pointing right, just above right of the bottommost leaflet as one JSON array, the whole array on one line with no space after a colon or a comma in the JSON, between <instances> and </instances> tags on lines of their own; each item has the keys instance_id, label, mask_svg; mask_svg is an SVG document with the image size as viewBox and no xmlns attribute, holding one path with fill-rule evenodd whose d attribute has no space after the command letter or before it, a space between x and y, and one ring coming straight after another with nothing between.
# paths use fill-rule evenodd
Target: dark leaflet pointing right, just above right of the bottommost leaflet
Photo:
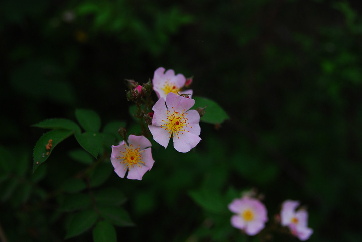
<instances>
[{"instance_id":1,"label":"dark leaflet pointing right, just above right of the bottommost leaflet","mask_svg":"<svg viewBox=\"0 0 362 242\"><path fill-rule=\"evenodd\" d=\"M132 222L127 211L121 207L98 207L98 211L104 219L120 227L131 227L135 224Z\"/></svg>"}]
</instances>

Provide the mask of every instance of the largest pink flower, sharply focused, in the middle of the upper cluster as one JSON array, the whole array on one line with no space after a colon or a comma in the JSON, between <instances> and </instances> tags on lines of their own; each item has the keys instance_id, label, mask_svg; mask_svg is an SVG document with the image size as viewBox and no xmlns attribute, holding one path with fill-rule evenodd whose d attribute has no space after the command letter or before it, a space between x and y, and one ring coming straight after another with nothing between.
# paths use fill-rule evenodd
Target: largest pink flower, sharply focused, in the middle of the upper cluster
<instances>
[{"instance_id":1,"label":"largest pink flower, sharply focused, in the middle of the upper cluster","mask_svg":"<svg viewBox=\"0 0 362 242\"><path fill-rule=\"evenodd\" d=\"M152 124L148 126L153 139L167 148L173 136L173 146L179 152L188 152L201 140L200 115L189 110L195 104L194 99L169 93L166 103L161 97L153 106ZM167 105L167 107L166 107Z\"/></svg>"}]
</instances>

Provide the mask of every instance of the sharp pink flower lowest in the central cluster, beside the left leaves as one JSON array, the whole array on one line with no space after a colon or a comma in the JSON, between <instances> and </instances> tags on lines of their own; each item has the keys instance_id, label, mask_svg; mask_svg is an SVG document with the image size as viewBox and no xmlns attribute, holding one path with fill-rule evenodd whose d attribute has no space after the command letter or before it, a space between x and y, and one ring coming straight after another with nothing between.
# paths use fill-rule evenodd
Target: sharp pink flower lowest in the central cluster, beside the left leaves
<instances>
[{"instance_id":1,"label":"sharp pink flower lowest in the central cluster, beside the left leaves","mask_svg":"<svg viewBox=\"0 0 362 242\"><path fill-rule=\"evenodd\" d=\"M142 180L154 163L151 142L144 136L130 135L128 143L122 141L118 146L112 146L112 165L119 177L123 178L128 170L128 179Z\"/></svg>"}]
</instances>

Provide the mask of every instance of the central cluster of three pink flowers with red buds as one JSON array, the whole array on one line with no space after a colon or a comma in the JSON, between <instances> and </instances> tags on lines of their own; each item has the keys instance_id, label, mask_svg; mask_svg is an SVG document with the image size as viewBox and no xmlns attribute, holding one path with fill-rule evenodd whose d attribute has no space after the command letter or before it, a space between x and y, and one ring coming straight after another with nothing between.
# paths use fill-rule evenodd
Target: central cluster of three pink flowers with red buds
<instances>
[{"instance_id":1,"label":"central cluster of three pink flowers with red buds","mask_svg":"<svg viewBox=\"0 0 362 242\"><path fill-rule=\"evenodd\" d=\"M188 152L201 140L200 115L196 110L190 110L195 104L191 99L193 91L183 90L191 84L184 75L163 67L154 72L152 84L133 86L128 93L128 99L144 96L144 92L152 89L159 98L153 106L153 112L148 114L148 128L153 139L167 148L173 137L173 146L179 152ZM128 179L142 180L149 171L154 160L151 153L151 142L145 136L130 135L117 146L112 146L111 162L117 175L123 178L128 171Z\"/></svg>"}]
</instances>

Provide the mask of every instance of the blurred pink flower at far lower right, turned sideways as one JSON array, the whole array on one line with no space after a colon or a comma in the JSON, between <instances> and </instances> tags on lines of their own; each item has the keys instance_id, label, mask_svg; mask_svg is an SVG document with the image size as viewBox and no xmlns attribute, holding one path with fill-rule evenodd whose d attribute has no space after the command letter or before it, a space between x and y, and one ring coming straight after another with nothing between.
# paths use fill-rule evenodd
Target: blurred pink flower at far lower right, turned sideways
<instances>
[{"instance_id":1,"label":"blurred pink flower at far lower right, turned sideways","mask_svg":"<svg viewBox=\"0 0 362 242\"><path fill-rule=\"evenodd\" d=\"M305 241L312 235L313 229L308 228L308 212L305 209L296 211L298 206L298 201L286 200L283 202L281 224L288 226L294 236Z\"/></svg>"}]
</instances>

